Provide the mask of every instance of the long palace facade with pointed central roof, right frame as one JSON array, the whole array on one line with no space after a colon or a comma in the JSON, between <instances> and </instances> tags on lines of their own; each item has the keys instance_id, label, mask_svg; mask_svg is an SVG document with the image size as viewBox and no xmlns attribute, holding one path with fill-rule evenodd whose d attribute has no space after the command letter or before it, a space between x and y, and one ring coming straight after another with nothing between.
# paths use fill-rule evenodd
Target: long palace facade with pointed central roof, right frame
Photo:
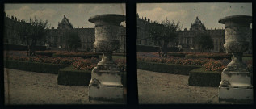
<instances>
[{"instance_id":1,"label":"long palace facade with pointed central roof, right frame","mask_svg":"<svg viewBox=\"0 0 256 109\"><path fill-rule=\"evenodd\" d=\"M145 46L157 46L153 43L152 40L149 39L149 30L147 30L150 23L156 23L150 21L150 19L146 17L142 17L137 15L137 45L145 45ZM225 44L225 29L207 29L204 26L204 23L196 17L195 22L191 23L191 28L187 30L184 28L183 31L178 31L178 39L175 42L178 43L170 43L168 47L178 46L183 49L183 51L199 51L194 37L200 32L208 33L212 37L213 45L212 52L225 52L225 48L223 44ZM250 31L250 38L252 36L252 31ZM252 43L250 40L250 51L251 51Z\"/></svg>"}]
</instances>

